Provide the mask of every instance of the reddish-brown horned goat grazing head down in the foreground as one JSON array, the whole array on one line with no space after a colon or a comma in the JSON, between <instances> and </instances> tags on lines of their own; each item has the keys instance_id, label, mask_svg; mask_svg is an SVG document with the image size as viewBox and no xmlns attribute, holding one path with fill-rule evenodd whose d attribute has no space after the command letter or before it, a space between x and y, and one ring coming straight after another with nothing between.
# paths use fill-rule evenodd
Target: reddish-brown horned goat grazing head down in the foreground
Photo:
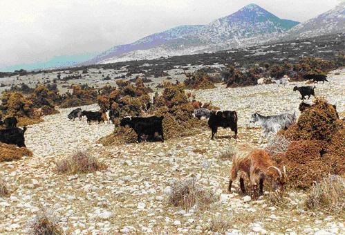
<instances>
[{"instance_id":1,"label":"reddish-brown horned goat grazing head down in the foreground","mask_svg":"<svg viewBox=\"0 0 345 235\"><path fill-rule=\"evenodd\" d=\"M231 176L227 187L228 194L231 193L232 182L236 179L239 171L247 173L252 185L254 200L257 200L259 195L263 195L263 181L266 178L272 180L274 190L278 189L283 194L283 187L286 182L286 168L283 167L283 171L281 171L278 167L275 167L272 158L265 150L248 147L248 144L243 144L241 148L237 149L236 156L232 158ZM244 179L241 175L240 187L241 191L245 193Z\"/></svg>"}]
</instances>

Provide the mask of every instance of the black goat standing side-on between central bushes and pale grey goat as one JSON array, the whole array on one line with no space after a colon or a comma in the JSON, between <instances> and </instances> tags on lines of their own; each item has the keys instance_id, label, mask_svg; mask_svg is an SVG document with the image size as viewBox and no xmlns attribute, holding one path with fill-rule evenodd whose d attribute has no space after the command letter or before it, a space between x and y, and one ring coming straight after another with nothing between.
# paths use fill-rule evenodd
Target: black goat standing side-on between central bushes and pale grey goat
<instances>
[{"instance_id":1,"label":"black goat standing side-on between central bushes and pale grey goat","mask_svg":"<svg viewBox=\"0 0 345 235\"><path fill-rule=\"evenodd\" d=\"M218 127L228 128L234 131L234 138L237 138L237 113L236 111L211 111L208 126L212 130L211 140L217 133Z\"/></svg>"}]
</instances>

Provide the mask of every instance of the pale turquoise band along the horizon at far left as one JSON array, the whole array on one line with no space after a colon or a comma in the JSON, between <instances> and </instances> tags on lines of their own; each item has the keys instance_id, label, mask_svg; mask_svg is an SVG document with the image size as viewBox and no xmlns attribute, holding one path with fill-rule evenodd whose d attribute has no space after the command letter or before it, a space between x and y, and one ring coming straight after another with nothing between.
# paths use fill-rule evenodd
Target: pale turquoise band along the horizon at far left
<instances>
[{"instance_id":1,"label":"pale turquoise band along the horizon at far left","mask_svg":"<svg viewBox=\"0 0 345 235\"><path fill-rule=\"evenodd\" d=\"M0 66L0 71L12 72L20 69L25 69L26 71L33 71L37 69L75 66L76 64L85 62L88 59L92 59L97 54L98 53L85 53L79 55L59 55L53 57L52 59L49 59L46 62L37 62L32 64L17 64L14 66Z\"/></svg>"}]
</instances>

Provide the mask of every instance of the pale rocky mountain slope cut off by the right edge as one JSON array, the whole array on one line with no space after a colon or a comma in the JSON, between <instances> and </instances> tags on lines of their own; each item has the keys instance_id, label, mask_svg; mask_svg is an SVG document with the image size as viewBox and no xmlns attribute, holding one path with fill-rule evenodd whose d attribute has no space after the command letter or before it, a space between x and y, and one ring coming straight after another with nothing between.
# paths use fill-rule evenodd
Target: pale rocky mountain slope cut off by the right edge
<instances>
[{"instance_id":1,"label":"pale rocky mountain slope cut off by the right edge","mask_svg":"<svg viewBox=\"0 0 345 235\"><path fill-rule=\"evenodd\" d=\"M345 32L345 2L281 35L285 39L301 39Z\"/></svg>"}]
</instances>

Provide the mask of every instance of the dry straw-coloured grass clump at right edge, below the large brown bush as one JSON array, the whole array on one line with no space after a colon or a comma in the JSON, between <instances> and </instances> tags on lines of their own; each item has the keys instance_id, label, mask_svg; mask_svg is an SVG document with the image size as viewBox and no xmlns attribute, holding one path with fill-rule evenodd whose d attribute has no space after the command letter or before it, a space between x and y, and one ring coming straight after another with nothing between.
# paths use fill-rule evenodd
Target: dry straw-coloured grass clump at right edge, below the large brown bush
<instances>
[{"instance_id":1,"label":"dry straw-coloured grass clump at right edge, below the large brown bush","mask_svg":"<svg viewBox=\"0 0 345 235\"><path fill-rule=\"evenodd\" d=\"M345 209L345 179L328 176L310 188L306 207L315 211L338 213Z\"/></svg>"}]
</instances>

